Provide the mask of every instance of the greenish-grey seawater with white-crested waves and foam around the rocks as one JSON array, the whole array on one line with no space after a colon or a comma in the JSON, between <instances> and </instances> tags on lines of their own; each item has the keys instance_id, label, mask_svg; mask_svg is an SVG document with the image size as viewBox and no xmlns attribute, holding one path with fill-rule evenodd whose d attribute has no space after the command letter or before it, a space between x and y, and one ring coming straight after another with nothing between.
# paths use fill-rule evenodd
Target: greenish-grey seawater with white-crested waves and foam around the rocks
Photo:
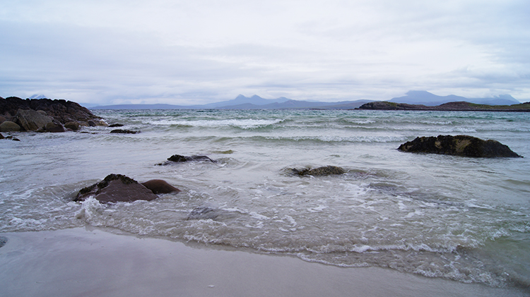
<instances>
[{"instance_id":1,"label":"greenish-grey seawater with white-crested waves and foam around the rocks","mask_svg":"<svg viewBox=\"0 0 530 297\"><path fill-rule=\"evenodd\" d=\"M109 110L112 128L1 140L0 232L97 226L207 246L530 286L530 117L461 111ZM417 136L472 135L525 158L399 152ZM217 163L158 165L172 154ZM340 176L293 176L334 165ZM124 174L181 193L72 202ZM196 207L216 219L188 220Z\"/></svg>"}]
</instances>

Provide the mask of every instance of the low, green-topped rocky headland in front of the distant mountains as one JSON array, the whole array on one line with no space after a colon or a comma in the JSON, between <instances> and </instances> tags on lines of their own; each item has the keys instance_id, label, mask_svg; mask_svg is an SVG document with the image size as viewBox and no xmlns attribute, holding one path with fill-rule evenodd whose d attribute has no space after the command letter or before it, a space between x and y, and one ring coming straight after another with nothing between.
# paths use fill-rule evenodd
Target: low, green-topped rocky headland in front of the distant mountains
<instances>
[{"instance_id":1,"label":"low, green-topped rocky headland in front of the distant mountains","mask_svg":"<svg viewBox=\"0 0 530 297\"><path fill-rule=\"evenodd\" d=\"M417 111L530 111L530 102L512 105L487 105L473 104L469 102L449 102L435 107L422 104L394 103L387 101L368 102L358 109L365 110L417 110Z\"/></svg>"}]
</instances>

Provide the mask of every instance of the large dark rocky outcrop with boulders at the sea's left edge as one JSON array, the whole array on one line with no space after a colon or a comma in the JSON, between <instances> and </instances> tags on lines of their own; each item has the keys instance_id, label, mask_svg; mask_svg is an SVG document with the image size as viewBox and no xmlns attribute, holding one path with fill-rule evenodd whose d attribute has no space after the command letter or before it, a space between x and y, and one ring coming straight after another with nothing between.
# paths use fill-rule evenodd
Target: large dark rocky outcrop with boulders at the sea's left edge
<instances>
[{"instance_id":1,"label":"large dark rocky outcrop with boulders at the sea's left edge","mask_svg":"<svg viewBox=\"0 0 530 297\"><path fill-rule=\"evenodd\" d=\"M82 126L107 123L76 102L0 97L0 132L64 132L77 131Z\"/></svg>"}]
</instances>

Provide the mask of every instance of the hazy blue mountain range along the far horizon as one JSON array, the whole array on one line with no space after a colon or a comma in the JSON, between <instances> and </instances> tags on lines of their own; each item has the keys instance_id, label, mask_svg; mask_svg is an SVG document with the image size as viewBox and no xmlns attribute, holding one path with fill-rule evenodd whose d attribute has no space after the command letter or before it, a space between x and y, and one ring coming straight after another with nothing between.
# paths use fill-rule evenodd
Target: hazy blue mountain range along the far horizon
<instances>
[{"instance_id":1,"label":"hazy blue mountain range along the far horizon","mask_svg":"<svg viewBox=\"0 0 530 297\"><path fill-rule=\"evenodd\" d=\"M355 100L343 102L312 102L279 97L264 99L258 95L245 97L239 95L235 99L202 104L202 105L172 105L172 104L118 104L88 107L90 109L355 109L374 100ZM488 105L511 105L521 102L510 95L500 95L493 98L466 98L456 95L437 96L427 91L408 91L403 97L395 97L390 102L406 104L423 104L437 106L447 102L471 102Z\"/></svg>"}]
</instances>

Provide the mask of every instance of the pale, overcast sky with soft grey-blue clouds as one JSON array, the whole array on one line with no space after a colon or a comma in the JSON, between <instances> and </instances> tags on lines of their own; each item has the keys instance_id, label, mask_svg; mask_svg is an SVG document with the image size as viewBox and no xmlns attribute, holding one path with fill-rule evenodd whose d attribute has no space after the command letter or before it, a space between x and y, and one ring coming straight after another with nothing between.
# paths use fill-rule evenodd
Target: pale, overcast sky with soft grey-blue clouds
<instances>
[{"instance_id":1,"label":"pale, overcast sky with soft grey-blue clouds","mask_svg":"<svg viewBox=\"0 0 530 297\"><path fill-rule=\"evenodd\" d=\"M530 101L529 0L18 0L0 96L206 104L408 90Z\"/></svg>"}]
</instances>

